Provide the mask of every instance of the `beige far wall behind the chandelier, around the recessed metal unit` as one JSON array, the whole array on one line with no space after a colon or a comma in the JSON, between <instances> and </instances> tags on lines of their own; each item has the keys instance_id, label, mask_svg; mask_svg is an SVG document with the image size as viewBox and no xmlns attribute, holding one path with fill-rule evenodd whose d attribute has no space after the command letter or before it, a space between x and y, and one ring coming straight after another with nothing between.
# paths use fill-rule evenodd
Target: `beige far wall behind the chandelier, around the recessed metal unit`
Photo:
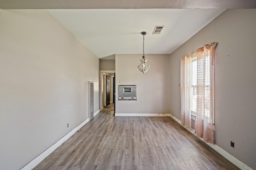
<instances>
[{"instance_id":1,"label":"beige far wall behind the chandelier, around the recessed metal unit","mask_svg":"<svg viewBox=\"0 0 256 170\"><path fill-rule=\"evenodd\" d=\"M150 68L137 68L142 55L116 55L116 113L170 113L169 55L146 55ZM136 85L137 101L118 101L118 85Z\"/></svg>"}]
</instances>

